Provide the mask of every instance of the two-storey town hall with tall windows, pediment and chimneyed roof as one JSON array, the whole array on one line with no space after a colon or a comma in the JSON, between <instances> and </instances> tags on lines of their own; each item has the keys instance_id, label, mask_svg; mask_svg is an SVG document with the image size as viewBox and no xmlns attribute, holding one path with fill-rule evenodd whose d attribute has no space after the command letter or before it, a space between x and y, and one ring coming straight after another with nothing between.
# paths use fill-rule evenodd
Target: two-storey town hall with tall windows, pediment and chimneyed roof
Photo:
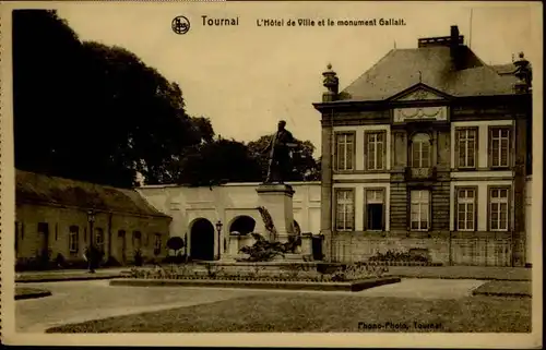
<instances>
[{"instance_id":1,"label":"two-storey town hall with tall windows, pediment and chimneyed roof","mask_svg":"<svg viewBox=\"0 0 546 350\"><path fill-rule=\"evenodd\" d=\"M446 265L530 262L530 63L487 65L463 43L452 26L393 49L342 92L323 73L329 260L419 249Z\"/></svg>"}]
</instances>

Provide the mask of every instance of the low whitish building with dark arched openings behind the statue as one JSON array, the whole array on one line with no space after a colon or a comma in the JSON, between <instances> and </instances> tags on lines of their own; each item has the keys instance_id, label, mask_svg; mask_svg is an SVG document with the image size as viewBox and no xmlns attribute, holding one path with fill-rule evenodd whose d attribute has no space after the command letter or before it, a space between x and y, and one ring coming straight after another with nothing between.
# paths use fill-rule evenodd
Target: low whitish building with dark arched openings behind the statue
<instances>
[{"instance_id":1,"label":"low whitish building with dark arched openings behind the statue","mask_svg":"<svg viewBox=\"0 0 546 350\"><path fill-rule=\"evenodd\" d=\"M320 232L320 182L290 183L297 231ZM139 188L150 204L170 216L170 236L185 239L195 260L217 260L228 253L230 234L266 234L256 191L259 183L226 183L214 188L145 185ZM218 222L222 226L218 226Z\"/></svg>"}]
</instances>

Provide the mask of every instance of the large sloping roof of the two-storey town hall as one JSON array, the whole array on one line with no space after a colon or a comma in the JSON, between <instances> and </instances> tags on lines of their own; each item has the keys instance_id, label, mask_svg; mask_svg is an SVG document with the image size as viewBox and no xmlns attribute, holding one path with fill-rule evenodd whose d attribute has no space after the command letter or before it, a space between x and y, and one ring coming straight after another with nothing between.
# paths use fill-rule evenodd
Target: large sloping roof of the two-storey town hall
<instances>
[{"instance_id":1,"label":"large sloping roof of the two-storey town hall","mask_svg":"<svg viewBox=\"0 0 546 350\"><path fill-rule=\"evenodd\" d=\"M513 64L488 65L468 47L459 49L459 69L446 46L393 49L343 89L340 102L385 100L419 82L454 97L514 94Z\"/></svg>"}]
</instances>

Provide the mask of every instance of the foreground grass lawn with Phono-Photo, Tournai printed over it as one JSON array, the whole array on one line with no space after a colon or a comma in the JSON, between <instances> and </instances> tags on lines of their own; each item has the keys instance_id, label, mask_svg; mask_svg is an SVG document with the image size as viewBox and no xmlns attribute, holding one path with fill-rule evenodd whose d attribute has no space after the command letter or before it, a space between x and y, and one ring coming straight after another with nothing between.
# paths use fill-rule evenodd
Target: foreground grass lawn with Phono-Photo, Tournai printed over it
<instances>
[{"instance_id":1,"label":"foreground grass lawn with Phono-Photo, Tournai printed over it","mask_svg":"<svg viewBox=\"0 0 546 350\"><path fill-rule=\"evenodd\" d=\"M47 333L531 331L531 299L458 300L276 294L111 317ZM419 328L434 324L435 327ZM359 327L360 324L360 327ZM364 329L364 324L388 326ZM389 327L389 325L397 325ZM439 325L439 327L436 327Z\"/></svg>"}]
</instances>

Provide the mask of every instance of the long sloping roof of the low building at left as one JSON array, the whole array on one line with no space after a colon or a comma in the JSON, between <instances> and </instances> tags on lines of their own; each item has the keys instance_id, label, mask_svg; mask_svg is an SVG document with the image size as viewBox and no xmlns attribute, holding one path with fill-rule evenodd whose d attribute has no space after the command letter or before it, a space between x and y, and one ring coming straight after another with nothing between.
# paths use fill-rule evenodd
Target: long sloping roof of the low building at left
<instances>
[{"instance_id":1,"label":"long sloping roof of the low building at left","mask_svg":"<svg viewBox=\"0 0 546 350\"><path fill-rule=\"evenodd\" d=\"M165 217L136 191L16 170L15 202Z\"/></svg>"}]
</instances>

